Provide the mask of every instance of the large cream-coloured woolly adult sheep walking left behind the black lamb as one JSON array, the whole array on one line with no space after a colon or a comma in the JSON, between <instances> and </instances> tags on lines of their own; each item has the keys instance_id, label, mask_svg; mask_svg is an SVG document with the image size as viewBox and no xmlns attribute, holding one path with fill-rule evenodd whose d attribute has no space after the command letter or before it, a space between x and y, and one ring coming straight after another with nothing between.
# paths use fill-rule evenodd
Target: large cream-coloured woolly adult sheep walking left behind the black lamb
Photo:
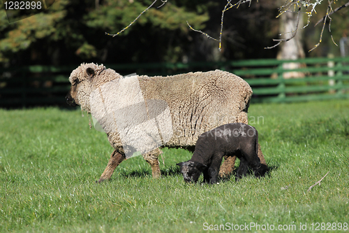
<instances>
[{"instance_id":1,"label":"large cream-coloured woolly adult sheep walking left behind the black lamb","mask_svg":"<svg viewBox=\"0 0 349 233\"><path fill-rule=\"evenodd\" d=\"M98 182L135 151L161 176L161 146L193 151L200 134L232 122L248 123L251 87L226 71L174 76L122 77L112 69L81 64L69 77L66 99L98 120L114 152ZM260 162L265 164L259 149ZM236 157L225 157L220 175L230 174Z\"/></svg>"}]
</instances>

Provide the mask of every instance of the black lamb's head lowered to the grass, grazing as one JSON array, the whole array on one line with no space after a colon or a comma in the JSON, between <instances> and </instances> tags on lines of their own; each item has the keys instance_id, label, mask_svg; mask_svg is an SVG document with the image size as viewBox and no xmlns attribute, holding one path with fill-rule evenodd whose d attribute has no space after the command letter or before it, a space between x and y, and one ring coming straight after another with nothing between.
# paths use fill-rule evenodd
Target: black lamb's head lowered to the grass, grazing
<instances>
[{"instance_id":1,"label":"black lamb's head lowered to the grass, grazing","mask_svg":"<svg viewBox=\"0 0 349 233\"><path fill-rule=\"evenodd\" d=\"M197 182L202 171L207 168L204 164L200 162L193 162L191 160L186 162L179 162L177 164L181 167L181 174L183 174L184 181L186 182Z\"/></svg>"}]
</instances>

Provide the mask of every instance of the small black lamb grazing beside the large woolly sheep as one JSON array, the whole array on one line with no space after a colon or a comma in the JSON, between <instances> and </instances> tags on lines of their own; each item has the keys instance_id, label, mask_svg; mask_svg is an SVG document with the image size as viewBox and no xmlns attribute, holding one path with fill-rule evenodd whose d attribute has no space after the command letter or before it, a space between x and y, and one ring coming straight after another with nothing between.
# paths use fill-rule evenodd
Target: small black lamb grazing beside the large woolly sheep
<instances>
[{"instance_id":1,"label":"small black lamb grazing beside the large woolly sheep","mask_svg":"<svg viewBox=\"0 0 349 233\"><path fill-rule=\"evenodd\" d=\"M181 167L184 181L197 182L203 172L204 181L217 183L219 167L224 155L237 156L240 160L237 177L246 175L251 167L256 177L268 171L258 157L258 132L244 123L221 125L200 135L191 160L177 164Z\"/></svg>"}]
</instances>

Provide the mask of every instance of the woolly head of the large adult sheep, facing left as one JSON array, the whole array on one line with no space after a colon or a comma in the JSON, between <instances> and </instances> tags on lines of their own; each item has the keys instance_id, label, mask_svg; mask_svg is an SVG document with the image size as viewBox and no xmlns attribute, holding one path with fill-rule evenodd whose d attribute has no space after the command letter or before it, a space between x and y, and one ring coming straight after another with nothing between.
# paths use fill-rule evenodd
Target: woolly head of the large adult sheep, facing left
<instances>
[{"instance_id":1,"label":"woolly head of the large adult sheep, facing left","mask_svg":"<svg viewBox=\"0 0 349 233\"><path fill-rule=\"evenodd\" d=\"M89 95L94 88L117 78L118 73L112 69L105 69L103 64L81 64L70 73L70 91L66 101L70 106L80 105L82 110L90 112Z\"/></svg>"}]
</instances>

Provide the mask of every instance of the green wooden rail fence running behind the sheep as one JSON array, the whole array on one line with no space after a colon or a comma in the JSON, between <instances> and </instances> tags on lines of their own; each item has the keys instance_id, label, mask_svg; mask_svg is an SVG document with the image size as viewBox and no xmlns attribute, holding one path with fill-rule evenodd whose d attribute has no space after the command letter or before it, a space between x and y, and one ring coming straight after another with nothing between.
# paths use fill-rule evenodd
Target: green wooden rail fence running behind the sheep
<instances>
[{"instance_id":1,"label":"green wooden rail fence running behind the sheep","mask_svg":"<svg viewBox=\"0 0 349 233\"><path fill-rule=\"evenodd\" d=\"M75 66L23 66L0 69L0 107L66 106L68 77ZM253 102L349 98L349 57L297 60L252 59L229 62L105 64L122 75L168 76L221 69L244 78ZM287 69L286 66L293 67Z\"/></svg>"}]
</instances>

